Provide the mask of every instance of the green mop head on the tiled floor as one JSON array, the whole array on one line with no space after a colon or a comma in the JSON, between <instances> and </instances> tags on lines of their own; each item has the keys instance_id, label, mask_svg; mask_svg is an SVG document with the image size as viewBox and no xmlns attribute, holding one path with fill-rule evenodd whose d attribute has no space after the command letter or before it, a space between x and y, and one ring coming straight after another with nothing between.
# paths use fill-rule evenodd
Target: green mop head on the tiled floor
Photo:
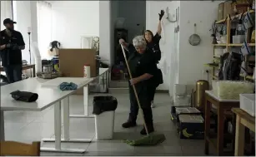
<instances>
[{"instance_id":1,"label":"green mop head on the tiled floor","mask_svg":"<svg viewBox=\"0 0 256 157\"><path fill-rule=\"evenodd\" d=\"M124 142L128 145L138 146L138 145L158 145L162 143L165 139L163 134L158 135L148 135L140 140L125 140Z\"/></svg>"}]
</instances>

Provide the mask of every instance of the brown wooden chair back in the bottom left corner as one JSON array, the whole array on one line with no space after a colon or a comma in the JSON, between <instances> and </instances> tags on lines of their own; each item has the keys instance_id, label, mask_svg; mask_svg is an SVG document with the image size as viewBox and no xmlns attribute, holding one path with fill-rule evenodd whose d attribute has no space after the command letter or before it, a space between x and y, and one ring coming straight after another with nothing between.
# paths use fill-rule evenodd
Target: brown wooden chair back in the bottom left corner
<instances>
[{"instance_id":1,"label":"brown wooden chair back in the bottom left corner","mask_svg":"<svg viewBox=\"0 0 256 157\"><path fill-rule=\"evenodd\" d=\"M0 142L0 156L40 156L40 142L24 144L15 141Z\"/></svg>"}]
</instances>

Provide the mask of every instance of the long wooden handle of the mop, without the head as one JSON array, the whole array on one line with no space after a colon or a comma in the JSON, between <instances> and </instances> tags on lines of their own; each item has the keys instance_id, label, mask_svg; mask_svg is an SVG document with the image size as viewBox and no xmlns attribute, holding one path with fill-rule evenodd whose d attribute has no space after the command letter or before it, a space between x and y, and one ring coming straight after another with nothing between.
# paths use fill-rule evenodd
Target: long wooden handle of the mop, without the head
<instances>
[{"instance_id":1,"label":"long wooden handle of the mop, without the head","mask_svg":"<svg viewBox=\"0 0 256 157\"><path fill-rule=\"evenodd\" d=\"M121 47L122 47L123 56L124 56L124 60L125 60L125 63L126 63L127 69L128 69L129 76L130 76L130 78L132 79L133 76L132 76L132 73L131 73L131 71L130 71L130 67L129 67L129 65L128 65L128 61L127 61L127 58L126 58L126 55L125 55L125 52L124 52L124 49L123 49L123 45L122 45L122 44L121 44ZM139 109L140 109L140 110L139 110L139 113L141 114L141 116L142 116L142 118L143 118L143 124L144 124L145 130L146 130L146 133L147 133L147 135L149 135L149 134L148 134L148 127L147 127L147 125L146 125L146 120L145 120L145 118L144 118L144 113L143 113L142 107L141 107L141 105L140 105L140 102L139 102L139 100L138 100L138 94L137 94L137 91L136 91L136 88L135 88L134 85L133 85L133 91L134 91L134 95L135 95L136 100L137 100L137 103L138 103L138 107L139 107Z\"/></svg>"}]
</instances>

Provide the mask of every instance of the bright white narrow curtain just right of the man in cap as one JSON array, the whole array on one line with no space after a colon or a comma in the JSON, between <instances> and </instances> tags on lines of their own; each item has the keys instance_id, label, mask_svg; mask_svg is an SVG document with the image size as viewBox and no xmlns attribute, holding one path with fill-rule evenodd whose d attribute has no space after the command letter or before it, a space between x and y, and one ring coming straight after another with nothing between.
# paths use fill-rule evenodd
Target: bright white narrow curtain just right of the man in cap
<instances>
[{"instance_id":1,"label":"bright white narrow curtain just right of the man in cap","mask_svg":"<svg viewBox=\"0 0 256 157\"><path fill-rule=\"evenodd\" d=\"M38 1L38 48L42 59L50 59L48 49L52 42L52 5Z\"/></svg>"}]
</instances>

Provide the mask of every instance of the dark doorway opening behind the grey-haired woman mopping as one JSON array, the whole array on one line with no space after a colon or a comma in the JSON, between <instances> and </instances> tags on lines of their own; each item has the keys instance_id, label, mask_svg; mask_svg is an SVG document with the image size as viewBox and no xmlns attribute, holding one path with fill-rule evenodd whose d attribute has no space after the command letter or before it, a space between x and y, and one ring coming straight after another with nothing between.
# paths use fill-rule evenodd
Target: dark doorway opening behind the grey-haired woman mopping
<instances>
[{"instance_id":1,"label":"dark doorway opening behind the grey-haired woman mopping","mask_svg":"<svg viewBox=\"0 0 256 157\"><path fill-rule=\"evenodd\" d=\"M132 43L133 37L142 35L146 27L146 1L110 1L113 58L112 80L125 80L127 70L119 39Z\"/></svg>"}]
</instances>

